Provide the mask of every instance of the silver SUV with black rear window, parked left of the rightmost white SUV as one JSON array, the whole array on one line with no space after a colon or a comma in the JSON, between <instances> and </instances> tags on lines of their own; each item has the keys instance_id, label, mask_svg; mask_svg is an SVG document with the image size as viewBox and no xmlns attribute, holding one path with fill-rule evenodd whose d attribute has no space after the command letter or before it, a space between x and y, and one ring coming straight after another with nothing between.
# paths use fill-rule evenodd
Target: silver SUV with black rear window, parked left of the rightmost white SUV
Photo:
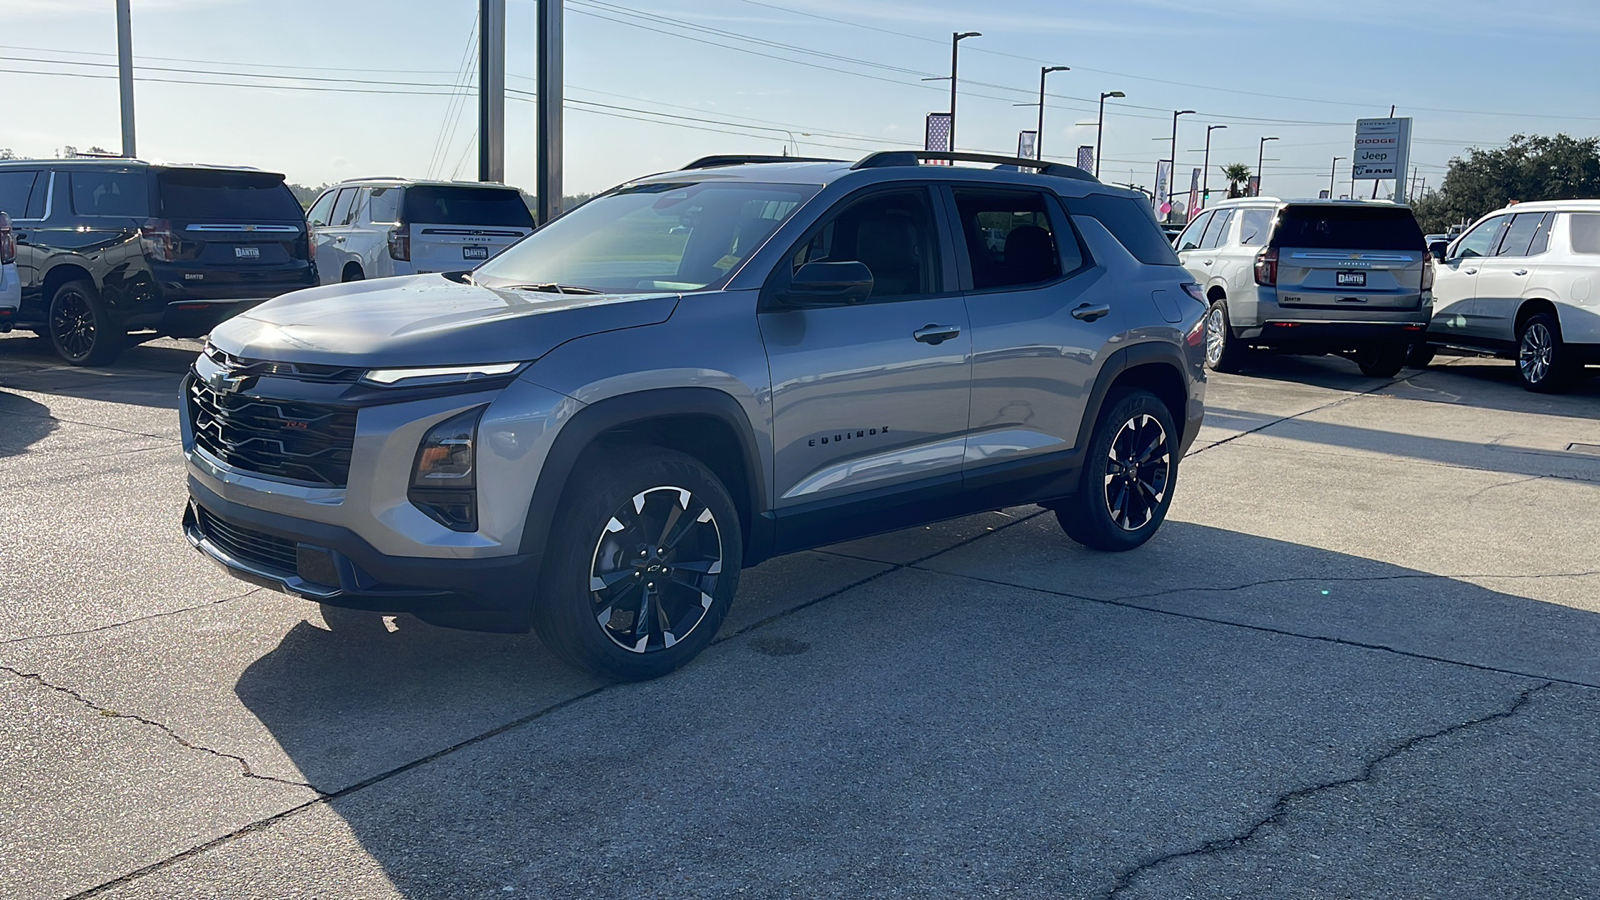
<instances>
[{"instance_id":1,"label":"silver SUV with black rear window, parked left of the rightmost white SUV","mask_svg":"<svg viewBox=\"0 0 1600 900\"><path fill-rule=\"evenodd\" d=\"M1389 378L1429 317L1434 269L1410 207L1368 200L1222 200L1178 239L1205 287L1206 365L1251 352L1336 352Z\"/></svg>"}]
</instances>

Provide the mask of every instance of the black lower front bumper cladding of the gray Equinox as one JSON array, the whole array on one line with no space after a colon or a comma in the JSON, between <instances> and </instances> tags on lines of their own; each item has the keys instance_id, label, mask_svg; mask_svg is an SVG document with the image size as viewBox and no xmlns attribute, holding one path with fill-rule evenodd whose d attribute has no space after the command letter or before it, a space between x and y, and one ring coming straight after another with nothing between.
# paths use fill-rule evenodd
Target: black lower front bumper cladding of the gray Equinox
<instances>
[{"instance_id":1,"label":"black lower front bumper cladding of the gray Equinox","mask_svg":"<svg viewBox=\"0 0 1600 900\"><path fill-rule=\"evenodd\" d=\"M238 564L208 552L235 577L318 602L382 613L411 613L434 625L526 631L539 556L435 559L387 556L355 532L222 500L189 479L190 540L214 544ZM338 585L322 589L331 572Z\"/></svg>"}]
</instances>

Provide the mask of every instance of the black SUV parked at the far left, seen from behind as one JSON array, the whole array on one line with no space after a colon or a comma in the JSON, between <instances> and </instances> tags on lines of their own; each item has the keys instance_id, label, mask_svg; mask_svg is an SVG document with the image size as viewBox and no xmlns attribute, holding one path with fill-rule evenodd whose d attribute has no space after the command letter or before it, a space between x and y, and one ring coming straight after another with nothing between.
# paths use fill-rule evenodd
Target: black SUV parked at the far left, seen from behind
<instances>
[{"instance_id":1,"label":"black SUV parked at the far left, seen from behind","mask_svg":"<svg viewBox=\"0 0 1600 900\"><path fill-rule=\"evenodd\" d=\"M74 365L130 331L194 338L262 299L315 287L306 216L282 175L139 160L0 162L22 306Z\"/></svg>"}]
</instances>

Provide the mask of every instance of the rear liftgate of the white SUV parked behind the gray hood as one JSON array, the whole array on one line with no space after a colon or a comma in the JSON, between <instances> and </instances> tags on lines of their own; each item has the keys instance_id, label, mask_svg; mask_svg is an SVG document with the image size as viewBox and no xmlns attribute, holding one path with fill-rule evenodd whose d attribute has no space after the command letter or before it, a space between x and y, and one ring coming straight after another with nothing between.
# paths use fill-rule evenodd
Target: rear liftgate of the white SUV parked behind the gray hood
<instances>
[{"instance_id":1,"label":"rear liftgate of the white SUV parked behind the gray hood","mask_svg":"<svg viewBox=\"0 0 1600 900\"><path fill-rule=\"evenodd\" d=\"M416 272L472 269L533 232L533 213L515 187L413 184L402 205Z\"/></svg>"}]
</instances>

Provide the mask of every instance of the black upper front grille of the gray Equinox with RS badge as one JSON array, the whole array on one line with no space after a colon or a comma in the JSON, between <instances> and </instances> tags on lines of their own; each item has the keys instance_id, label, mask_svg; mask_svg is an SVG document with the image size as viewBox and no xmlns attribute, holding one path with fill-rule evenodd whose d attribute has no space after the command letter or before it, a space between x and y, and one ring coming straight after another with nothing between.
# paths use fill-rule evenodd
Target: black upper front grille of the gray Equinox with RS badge
<instances>
[{"instance_id":1,"label":"black upper front grille of the gray Equinox with RS badge","mask_svg":"<svg viewBox=\"0 0 1600 900\"><path fill-rule=\"evenodd\" d=\"M195 444L229 466L318 485L350 477L355 410L222 392L189 381Z\"/></svg>"}]
</instances>

